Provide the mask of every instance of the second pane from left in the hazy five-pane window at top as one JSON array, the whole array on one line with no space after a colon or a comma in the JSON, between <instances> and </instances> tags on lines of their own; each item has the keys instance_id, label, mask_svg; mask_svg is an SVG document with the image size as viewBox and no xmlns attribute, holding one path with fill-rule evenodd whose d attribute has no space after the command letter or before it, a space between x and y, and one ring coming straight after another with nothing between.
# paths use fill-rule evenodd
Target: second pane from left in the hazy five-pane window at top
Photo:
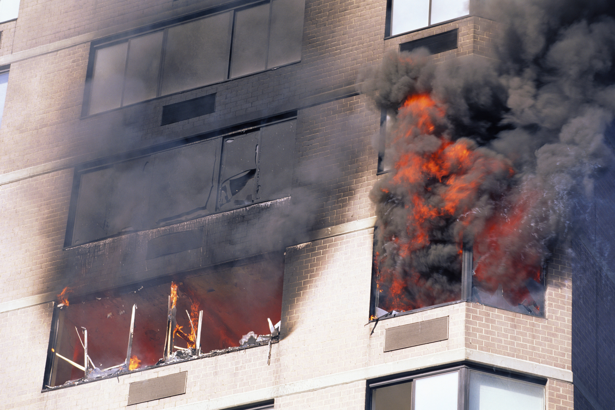
<instances>
[{"instance_id":1,"label":"second pane from left in the hazy five-pane window at top","mask_svg":"<svg viewBox=\"0 0 615 410\"><path fill-rule=\"evenodd\" d=\"M162 31L130 40L122 105L156 97Z\"/></svg>"}]
</instances>

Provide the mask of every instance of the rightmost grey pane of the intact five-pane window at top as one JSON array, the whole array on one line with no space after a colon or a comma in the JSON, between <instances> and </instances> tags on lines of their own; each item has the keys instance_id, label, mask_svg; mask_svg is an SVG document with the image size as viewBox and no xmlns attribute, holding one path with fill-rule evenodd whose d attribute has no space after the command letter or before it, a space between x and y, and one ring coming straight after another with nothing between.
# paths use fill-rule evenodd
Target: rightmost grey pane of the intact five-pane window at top
<instances>
[{"instance_id":1,"label":"rightmost grey pane of the intact five-pane window at top","mask_svg":"<svg viewBox=\"0 0 615 410\"><path fill-rule=\"evenodd\" d=\"M267 68L301 60L305 0L273 0Z\"/></svg>"}]
</instances>

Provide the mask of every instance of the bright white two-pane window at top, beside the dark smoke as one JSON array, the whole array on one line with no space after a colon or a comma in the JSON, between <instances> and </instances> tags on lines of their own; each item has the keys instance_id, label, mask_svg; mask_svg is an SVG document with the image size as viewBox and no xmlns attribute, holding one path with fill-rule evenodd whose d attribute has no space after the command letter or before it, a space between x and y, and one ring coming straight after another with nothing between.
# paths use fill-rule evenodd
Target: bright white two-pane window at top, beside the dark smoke
<instances>
[{"instance_id":1,"label":"bright white two-pane window at top, beside the dark smoke","mask_svg":"<svg viewBox=\"0 0 615 410\"><path fill-rule=\"evenodd\" d=\"M469 14L468 0L390 0L389 36Z\"/></svg>"}]
</instances>

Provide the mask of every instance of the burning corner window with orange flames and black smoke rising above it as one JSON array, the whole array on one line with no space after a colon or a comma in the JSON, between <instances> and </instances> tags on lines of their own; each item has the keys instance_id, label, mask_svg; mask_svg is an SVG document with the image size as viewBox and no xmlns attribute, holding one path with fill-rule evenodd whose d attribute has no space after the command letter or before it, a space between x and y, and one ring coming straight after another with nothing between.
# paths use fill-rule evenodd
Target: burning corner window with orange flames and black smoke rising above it
<instances>
[{"instance_id":1,"label":"burning corner window with orange flames and black smoke rising above it","mask_svg":"<svg viewBox=\"0 0 615 410\"><path fill-rule=\"evenodd\" d=\"M428 94L410 95L387 134L396 156L371 192L370 319L462 300L542 316L547 250L521 229L538 192L515 191L504 157L451 140L445 106Z\"/></svg>"}]
</instances>

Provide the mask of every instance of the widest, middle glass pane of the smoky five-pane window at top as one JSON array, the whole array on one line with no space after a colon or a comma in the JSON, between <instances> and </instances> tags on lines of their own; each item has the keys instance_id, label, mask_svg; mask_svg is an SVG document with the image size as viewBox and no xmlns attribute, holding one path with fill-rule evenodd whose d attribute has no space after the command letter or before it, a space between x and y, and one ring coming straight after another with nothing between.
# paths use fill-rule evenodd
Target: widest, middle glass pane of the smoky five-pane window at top
<instances>
[{"instance_id":1,"label":"widest, middle glass pane of the smoky five-pane window at top","mask_svg":"<svg viewBox=\"0 0 615 410\"><path fill-rule=\"evenodd\" d=\"M228 74L232 12L169 28L162 95L223 81Z\"/></svg>"}]
</instances>

